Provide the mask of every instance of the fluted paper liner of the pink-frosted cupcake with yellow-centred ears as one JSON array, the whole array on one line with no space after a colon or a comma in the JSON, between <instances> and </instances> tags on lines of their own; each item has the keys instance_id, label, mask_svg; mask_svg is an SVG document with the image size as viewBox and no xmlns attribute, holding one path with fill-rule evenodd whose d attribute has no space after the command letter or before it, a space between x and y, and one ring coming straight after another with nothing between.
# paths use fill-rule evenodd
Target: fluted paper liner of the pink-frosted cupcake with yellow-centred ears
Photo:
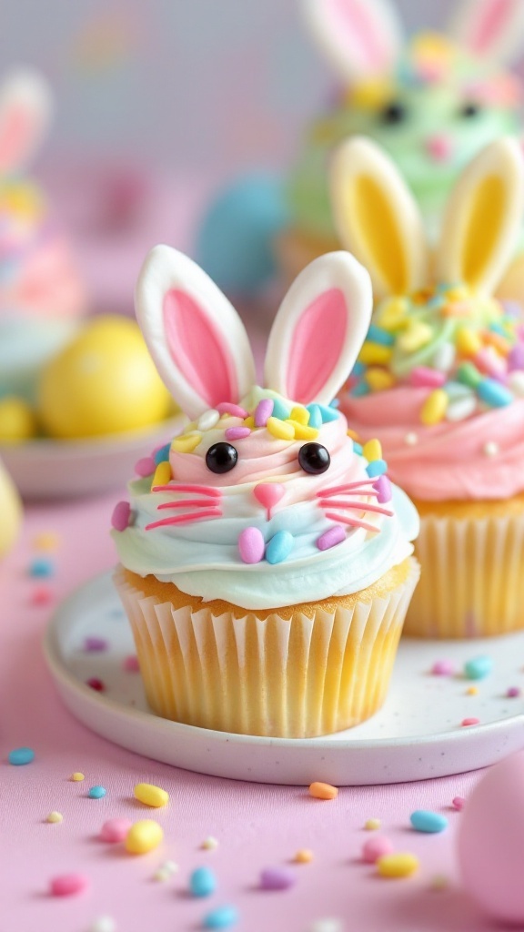
<instances>
[{"instance_id":1,"label":"fluted paper liner of the pink-frosted cupcake with yellow-centred ears","mask_svg":"<svg viewBox=\"0 0 524 932\"><path fill-rule=\"evenodd\" d=\"M421 518L411 637L490 637L524 628L524 514Z\"/></svg>"}]
</instances>

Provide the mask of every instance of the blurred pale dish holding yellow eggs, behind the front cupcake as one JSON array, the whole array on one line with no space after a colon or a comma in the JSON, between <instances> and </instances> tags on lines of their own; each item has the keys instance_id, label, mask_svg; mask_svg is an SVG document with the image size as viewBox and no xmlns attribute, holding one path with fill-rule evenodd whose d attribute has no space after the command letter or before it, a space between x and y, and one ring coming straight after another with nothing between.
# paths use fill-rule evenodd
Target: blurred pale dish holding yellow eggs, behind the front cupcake
<instances>
[{"instance_id":1,"label":"blurred pale dish holding yellow eggs, behind the front cupcake","mask_svg":"<svg viewBox=\"0 0 524 932\"><path fill-rule=\"evenodd\" d=\"M164 420L145 430L86 440L30 440L0 445L24 499L70 499L125 485L137 459L172 440L186 418Z\"/></svg>"}]
</instances>

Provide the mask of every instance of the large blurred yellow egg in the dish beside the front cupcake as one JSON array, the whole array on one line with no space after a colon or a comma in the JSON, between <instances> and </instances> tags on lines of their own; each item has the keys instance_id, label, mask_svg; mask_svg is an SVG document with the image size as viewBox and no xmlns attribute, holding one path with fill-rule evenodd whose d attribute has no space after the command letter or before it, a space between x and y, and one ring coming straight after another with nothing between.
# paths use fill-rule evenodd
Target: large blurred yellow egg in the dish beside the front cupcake
<instances>
[{"instance_id":1,"label":"large blurred yellow egg in the dish beside the front cupcake","mask_svg":"<svg viewBox=\"0 0 524 932\"><path fill-rule=\"evenodd\" d=\"M37 409L50 436L73 439L155 424L170 413L172 399L138 324L103 316L48 364Z\"/></svg>"}]
</instances>

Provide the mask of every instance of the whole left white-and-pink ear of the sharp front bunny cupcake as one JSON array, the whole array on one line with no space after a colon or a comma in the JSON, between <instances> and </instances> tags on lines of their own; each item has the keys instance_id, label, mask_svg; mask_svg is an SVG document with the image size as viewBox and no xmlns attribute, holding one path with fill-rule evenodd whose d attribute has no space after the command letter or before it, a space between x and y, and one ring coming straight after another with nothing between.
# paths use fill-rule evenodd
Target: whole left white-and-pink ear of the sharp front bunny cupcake
<instances>
[{"instance_id":1,"label":"whole left white-and-pink ear of the sharp front bunny cupcake","mask_svg":"<svg viewBox=\"0 0 524 932\"><path fill-rule=\"evenodd\" d=\"M241 319L192 259L155 246L135 308L159 375L189 418L221 402L237 404L252 389L255 363Z\"/></svg>"}]
</instances>

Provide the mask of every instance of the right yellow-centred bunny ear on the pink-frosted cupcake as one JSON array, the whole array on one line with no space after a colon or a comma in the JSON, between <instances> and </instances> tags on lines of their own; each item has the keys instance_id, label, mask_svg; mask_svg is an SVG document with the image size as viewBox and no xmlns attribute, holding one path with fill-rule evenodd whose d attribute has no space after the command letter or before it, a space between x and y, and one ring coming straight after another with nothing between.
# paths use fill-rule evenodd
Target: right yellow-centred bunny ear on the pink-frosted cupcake
<instances>
[{"instance_id":1,"label":"right yellow-centred bunny ear on the pink-frosted cupcake","mask_svg":"<svg viewBox=\"0 0 524 932\"><path fill-rule=\"evenodd\" d=\"M509 137L486 146L453 188L436 254L440 281L490 295L503 277L524 212L524 159Z\"/></svg>"}]
</instances>

